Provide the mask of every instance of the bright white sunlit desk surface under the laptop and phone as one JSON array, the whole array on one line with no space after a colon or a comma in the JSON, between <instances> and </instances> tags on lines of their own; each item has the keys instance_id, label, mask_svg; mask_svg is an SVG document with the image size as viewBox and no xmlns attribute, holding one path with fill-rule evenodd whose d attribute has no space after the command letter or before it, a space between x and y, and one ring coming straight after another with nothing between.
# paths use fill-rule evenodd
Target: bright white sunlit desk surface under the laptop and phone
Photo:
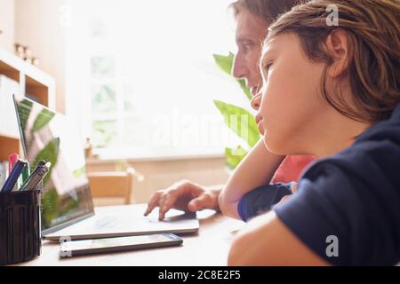
<instances>
[{"instance_id":1,"label":"bright white sunlit desk surface under the laptop and phone","mask_svg":"<svg viewBox=\"0 0 400 284\"><path fill-rule=\"evenodd\" d=\"M145 205L124 205L132 214L143 214ZM112 212L113 207L100 207L96 212ZM115 209L115 208L114 208ZM197 212L200 229L196 234L182 236L183 245L171 248L151 248L93 256L60 258L60 244L43 241L42 255L20 265L226 265L228 249L234 234L244 223L215 213L212 210Z\"/></svg>"}]
</instances>

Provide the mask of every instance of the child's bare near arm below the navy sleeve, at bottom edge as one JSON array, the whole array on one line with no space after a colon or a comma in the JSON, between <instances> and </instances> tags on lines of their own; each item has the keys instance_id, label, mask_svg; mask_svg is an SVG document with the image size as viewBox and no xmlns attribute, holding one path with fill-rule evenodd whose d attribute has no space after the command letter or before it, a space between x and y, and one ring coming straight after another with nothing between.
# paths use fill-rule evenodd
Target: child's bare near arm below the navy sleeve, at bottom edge
<instances>
[{"instance_id":1,"label":"child's bare near arm below the navy sleeve, at bottom edge","mask_svg":"<svg viewBox=\"0 0 400 284\"><path fill-rule=\"evenodd\" d=\"M229 251L228 265L329 265L303 244L274 211L254 218Z\"/></svg>"}]
</instances>

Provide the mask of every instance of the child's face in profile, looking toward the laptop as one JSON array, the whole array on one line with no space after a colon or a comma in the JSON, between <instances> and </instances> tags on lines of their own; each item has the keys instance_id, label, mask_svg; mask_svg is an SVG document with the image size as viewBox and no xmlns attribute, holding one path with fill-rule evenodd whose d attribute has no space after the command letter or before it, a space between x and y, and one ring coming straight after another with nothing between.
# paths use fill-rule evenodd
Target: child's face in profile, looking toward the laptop
<instances>
[{"instance_id":1,"label":"child's face in profile, looking toward the laptop","mask_svg":"<svg viewBox=\"0 0 400 284\"><path fill-rule=\"evenodd\" d=\"M307 154L332 111L320 91L324 63L311 62L299 37L284 34L263 48L260 70L263 87L256 121L265 130L266 146L275 154Z\"/></svg>"}]
</instances>

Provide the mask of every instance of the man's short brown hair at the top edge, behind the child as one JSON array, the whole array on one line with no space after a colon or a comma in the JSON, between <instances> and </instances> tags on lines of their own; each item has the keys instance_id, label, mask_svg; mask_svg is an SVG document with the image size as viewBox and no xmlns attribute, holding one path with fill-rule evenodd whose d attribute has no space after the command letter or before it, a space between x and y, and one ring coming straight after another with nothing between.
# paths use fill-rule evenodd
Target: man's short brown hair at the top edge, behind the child
<instances>
[{"instance_id":1,"label":"man's short brown hair at the top edge, behind the child","mask_svg":"<svg viewBox=\"0 0 400 284\"><path fill-rule=\"evenodd\" d=\"M244 9L271 23L284 12L290 11L298 2L299 0L237 0L229 7L233 9L235 16Z\"/></svg>"}]
</instances>

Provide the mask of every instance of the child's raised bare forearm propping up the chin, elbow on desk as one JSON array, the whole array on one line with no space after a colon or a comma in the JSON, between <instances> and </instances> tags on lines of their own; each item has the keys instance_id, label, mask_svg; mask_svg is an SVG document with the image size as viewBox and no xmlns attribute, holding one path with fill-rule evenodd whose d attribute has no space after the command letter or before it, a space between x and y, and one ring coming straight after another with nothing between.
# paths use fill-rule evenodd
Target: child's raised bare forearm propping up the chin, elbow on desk
<instances>
[{"instance_id":1,"label":"child's raised bare forearm propping up the chin, elbow on desk","mask_svg":"<svg viewBox=\"0 0 400 284\"><path fill-rule=\"evenodd\" d=\"M240 219L237 204L245 193L268 184L284 156L271 154L261 139L239 163L219 196L220 211L228 217Z\"/></svg>"}]
</instances>

